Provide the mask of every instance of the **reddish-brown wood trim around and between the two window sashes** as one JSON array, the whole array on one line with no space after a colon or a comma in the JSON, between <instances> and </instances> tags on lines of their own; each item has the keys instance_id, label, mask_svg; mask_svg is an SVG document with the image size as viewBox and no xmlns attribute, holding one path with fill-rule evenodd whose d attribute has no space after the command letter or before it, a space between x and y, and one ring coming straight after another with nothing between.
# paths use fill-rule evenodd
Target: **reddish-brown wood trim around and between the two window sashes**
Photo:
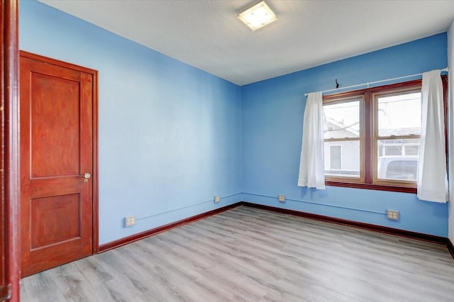
<instances>
[{"instance_id":1,"label":"reddish-brown wood trim around and between the two window sashes","mask_svg":"<svg viewBox=\"0 0 454 302\"><path fill-rule=\"evenodd\" d=\"M442 83L443 83L443 110L444 110L444 118L445 118L445 154L446 160L448 160L448 124L447 124L447 117L448 117L448 76L442 75L441 76ZM370 189L370 190L377 190L377 191L394 191L394 192L403 192L403 193L412 193L416 194L416 185L413 186L405 186L404 181L399 182L398 184L392 183L387 184L385 182L381 182L380 184L374 183L374 173L372 169L374 167L374 157L373 155L373 138L372 138L372 130L374 129L374 121L372 116L372 94L378 94L384 91L392 91L392 90L411 90L411 88L421 88L422 79L416 79L409 82L401 82L397 84L389 84L384 86L377 86L372 87L369 89L359 89L355 91L346 91L341 92L339 94L329 94L323 96L323 104L329 103L330 101L336 101L338 99L345 99L354 96L364 96L364 106L362 112L360 112L360 118L362 118L362 128L364 129L367 135L364 135L363 139L363 146L361 147L362 150L362 159L361 159L361 172L360 174L364 174L364 181L360 179L348 179L348 178L336 178L336 177L325 177L326 181L325 184L327 186L343 186L347 188L355 188L355 189ZM361 177L362 178L362 177Z\"/></svg>"}]
</instances>

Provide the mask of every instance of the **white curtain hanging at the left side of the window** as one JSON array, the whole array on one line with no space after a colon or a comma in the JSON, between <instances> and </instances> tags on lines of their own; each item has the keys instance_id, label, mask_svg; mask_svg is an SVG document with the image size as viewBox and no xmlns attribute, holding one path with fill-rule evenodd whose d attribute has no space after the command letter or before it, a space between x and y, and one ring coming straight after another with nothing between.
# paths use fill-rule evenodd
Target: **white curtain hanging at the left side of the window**
<instances>
[{"instance_id":1,"label":"white curtain hanging at the left side of the window","mask_svg":"<svg viewBox=\"0 0 454 302\"><path fill-rule=\"evenodd\" d=\"M325 189L323 121L321 92L312 92L307 96L306 109L304 110L298 186Z\"/></svg>"}]
</instances>

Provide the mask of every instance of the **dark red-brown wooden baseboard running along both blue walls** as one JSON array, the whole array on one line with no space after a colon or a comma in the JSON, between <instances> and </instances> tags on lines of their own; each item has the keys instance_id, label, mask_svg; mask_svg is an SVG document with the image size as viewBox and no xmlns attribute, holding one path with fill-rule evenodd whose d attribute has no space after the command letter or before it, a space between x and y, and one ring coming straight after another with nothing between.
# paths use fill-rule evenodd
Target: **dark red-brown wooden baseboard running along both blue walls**
<instances>
[{"instance_id":1,"label":"dark red-brown wooden baseboard running along both blue walls","mask_svg":"<svg viewBox=\"0 0 454 302\"><path fill-rule=\"evenodd\" d=\"M304 217L304 218L309 218L309 219L314 219L314 220L321 220L321 221L325 221L328 223L337 223L337 224L341 224L341 225L348 225L348 226L351 226L354 228L362 228L365 230L372 230L374 232L385 233L385 234L390 234L390 235L397 235L400 237L406 237L406 238L411 238L411 239L416 239L416 240L433 242L433 243L437 243L440 245L446 245L446 247L448 247L448 251L450 252L451 256L453 256L453 259L454 259L453 242L451 242L448 238L445 238L445 237L428 235L428 234L423 234L423 233L416 233L416 232L412 232L409 230L399 230L397 228L389 228L389 227L384 227L382 225L372 225L370 223L360 223L358 221L341 219L341 218L333 218L333 217L329 217L329 216L306 213L306 212L301 212L301 211L288 210L287 208L264 206L261 204L250 203L247 201L240 201L240 202L234 203L230 206L216 208L215 210L208 211L206 213L201 213L196 216L191 216L189 218L176 221L175 223L169 223L167 225L162 225L158 228L153 228L151 230L145 230L144 232L141 232L141 233L138 233L135 235L131 235L131 236L124 237L124 238L121 238L118 240L104 243L104 245L99 245L98 251L106 252L107 250L112 250L116 247L121 247L122 245L127 245L128 243L135 242L137 240L140 240L140 239L143 239L146 237L150 237L151 235L155 235L157 233L161 233L166 230L170 230L172 228L177 228L180 225L192 223L195 220L200 220L200 219L203 219L203 218L206 218L209 216L216 215L218 213L222 213L223 211L228 211L231 208L236 208L237 206L249 206L251 208L260 208L262 210L273 211L273 212L277 212L277 213L299 216L299 217Z\"/></svg>"}]
</instances>

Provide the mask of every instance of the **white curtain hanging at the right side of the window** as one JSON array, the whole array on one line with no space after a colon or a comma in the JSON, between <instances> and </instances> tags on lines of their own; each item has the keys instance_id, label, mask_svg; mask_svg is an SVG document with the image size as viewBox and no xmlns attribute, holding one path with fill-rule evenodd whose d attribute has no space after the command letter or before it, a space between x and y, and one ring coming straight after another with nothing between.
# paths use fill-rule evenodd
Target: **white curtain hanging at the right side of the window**
<instances>
[{"instance_id":1,"label":"white curtain hanging at the right side of the window","mask_svg":"<svg viewBox=\"0 0 454 302\"><path fill-rule=\"evenodd\" d=\"M440 72L423 73L417 196L424 201L445 203L448 201L448 176Z\"/></svg>"}]
</instances>

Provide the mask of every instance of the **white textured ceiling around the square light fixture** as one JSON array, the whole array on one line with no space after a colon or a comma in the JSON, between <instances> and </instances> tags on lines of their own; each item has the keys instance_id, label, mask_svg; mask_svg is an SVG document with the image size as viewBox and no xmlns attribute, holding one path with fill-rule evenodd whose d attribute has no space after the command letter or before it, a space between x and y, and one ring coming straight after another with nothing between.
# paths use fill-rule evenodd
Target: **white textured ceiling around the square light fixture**
<instances>
[{"instance_id":1,"label":"white textured ceiling around the square light fixture","mask_svg":"<svg viewBox=\"0 0 454 302\"><path fill-rule=\"evenodd\" d=\"M275 23L236 17L256 0L40 0L238 85L448 30L454 1L265 0Z\"/></svg>"}]
</instances>

